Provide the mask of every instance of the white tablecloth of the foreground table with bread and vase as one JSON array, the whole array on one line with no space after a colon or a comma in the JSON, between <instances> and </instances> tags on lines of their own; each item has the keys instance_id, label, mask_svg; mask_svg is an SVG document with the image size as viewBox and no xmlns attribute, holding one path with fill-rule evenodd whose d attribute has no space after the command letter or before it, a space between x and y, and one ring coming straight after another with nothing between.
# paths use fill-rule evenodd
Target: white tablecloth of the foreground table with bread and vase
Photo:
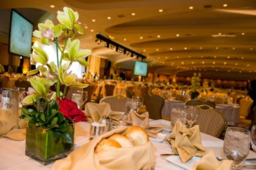
<instances>
[{"instance_id":1,"label":"white tablecloth of the foreground table with bread and vase","mask_svg":"<svg viewBox=\"0 0 256 170\"><path fill-rule=\"evenodd\" d=\"M76 144L75 149L79 148L85 143L89 141L89 129L90 124L86 122L76 123L75 128L75 141ZM216 141L222 141L216 137L212 137L211 135L201 134L202 141L212 142L212 144L216 143ZM159 157L161 153L170 153L172 148L169 143L166 142L158 142L152 140L154 146L156 146L157 151L155 155L156 158L156 166L154 169L182 169L174 164L168 162L165 158ZM29 158L25 155L25 140L24 141L13 141L12 139L2 138L0 139L0 169L50 169L52 164L48 166L44 166L36 160ZM255 154L255 153L253 153ZM256 155L256 154L255 154ZM84 167L86 169L86 167Z\"/></svg>"}]
</instances>

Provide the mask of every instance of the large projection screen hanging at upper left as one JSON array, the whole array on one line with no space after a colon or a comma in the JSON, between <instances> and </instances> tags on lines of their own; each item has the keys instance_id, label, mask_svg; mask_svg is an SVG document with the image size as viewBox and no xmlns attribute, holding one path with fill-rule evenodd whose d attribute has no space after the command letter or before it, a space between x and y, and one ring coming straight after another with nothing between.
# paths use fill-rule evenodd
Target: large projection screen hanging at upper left
<instances>
[{"instance_id":1,"label":"large projection screen hanging at upper left","mask_svg":"<svg viewBox=\"0 0 256 170\"><path fill-rule=\"evenodd\" d=\"M32 45L33 24L28 19L12 10L9 52L29 58Z\"/></svg>"}]
</instances>

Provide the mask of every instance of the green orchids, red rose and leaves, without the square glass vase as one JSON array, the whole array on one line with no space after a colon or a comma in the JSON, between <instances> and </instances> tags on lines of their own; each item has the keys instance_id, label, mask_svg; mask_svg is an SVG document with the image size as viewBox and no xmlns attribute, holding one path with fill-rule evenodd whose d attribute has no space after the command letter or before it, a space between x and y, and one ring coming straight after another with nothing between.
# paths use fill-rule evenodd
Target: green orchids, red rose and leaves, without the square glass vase
<instances>
[{"instance_id":1,"label":"green orchids, red rose and leaves, without the square glass vase","mask_svg":"<svg viewBox=\"0 0 256 170\"><path fill-rule=\"evenodd\" d=\"M70 66L78 62L82 66L90 64L84 59L92 51L89 49L80 50L80 41L73 40L77 33L83 35L83 29L77 20L79 14L71 8L64 7L63 12L58 11L57 19L60 22L54 25L51 20L38 24L38 29L33 32L33 36L40 39L44 45L56 45L56 61L49 63L49 56L42 48L42 45L33 45L31 61L40 65L28 72L28 75L40 73L29 79L31 88L29 95L22 100L23 107L20 118L28 120L28 125L54 130L54 137L68 139L68 124L77 121L87 121L84 113L77 108L77 105L65 98L68 86L86 88L88 84L76 82L76 74L70 71ZM58 43L58 38L65 36L63 47ZM60 58L59 58L60 52ZM51 56L50 56L51 57ZM65 63L63 62L65 61ZM56 91L51 91L51 86L56 84ZM60 86L64 85L64 91L60 91Z\"/></svg>"}]
</instances>

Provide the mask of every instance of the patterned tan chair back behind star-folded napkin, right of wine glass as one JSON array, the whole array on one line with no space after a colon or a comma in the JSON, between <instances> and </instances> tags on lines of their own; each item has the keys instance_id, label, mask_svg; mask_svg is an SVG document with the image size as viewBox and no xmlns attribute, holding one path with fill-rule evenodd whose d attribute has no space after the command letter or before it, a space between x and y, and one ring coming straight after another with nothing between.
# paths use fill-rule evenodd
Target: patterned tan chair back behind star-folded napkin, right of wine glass
<instances>
[{"instance_id":1,"label":"patterned tan chair back behind star-folded napkin, right of wine glass","mask_svg":"<svg viewBox=\"0 0 256 170\"><path fill-rule=\"evenodd\" d=\"M227 125L225 115L209 105L198 105L198 107L199 116L198 120L196 120L196 124L199 125L200 132L214 137L220 137L223 129ZM207 107L207 109L205 109L205 107Z\"/></svg>"}]
</instances>

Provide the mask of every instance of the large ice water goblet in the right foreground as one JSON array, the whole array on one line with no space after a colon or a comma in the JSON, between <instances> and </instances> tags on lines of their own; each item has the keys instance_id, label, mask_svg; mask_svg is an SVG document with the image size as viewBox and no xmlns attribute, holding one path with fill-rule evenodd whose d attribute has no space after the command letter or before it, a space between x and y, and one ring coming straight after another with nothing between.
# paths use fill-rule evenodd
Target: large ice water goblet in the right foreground
<instances>
[{"instance_id":1,"label":"large ice water goblet in the right foreground","mask_svg":"<svg viewBox=\"0 0 256 170\"><path fill-rule=\"evenodd\" d=\"M244 162L250 151L250 130L239 127L227 127L224 137L224 153L228 160L233 160L233 169Z\"/></svg>"}]
</instances>

